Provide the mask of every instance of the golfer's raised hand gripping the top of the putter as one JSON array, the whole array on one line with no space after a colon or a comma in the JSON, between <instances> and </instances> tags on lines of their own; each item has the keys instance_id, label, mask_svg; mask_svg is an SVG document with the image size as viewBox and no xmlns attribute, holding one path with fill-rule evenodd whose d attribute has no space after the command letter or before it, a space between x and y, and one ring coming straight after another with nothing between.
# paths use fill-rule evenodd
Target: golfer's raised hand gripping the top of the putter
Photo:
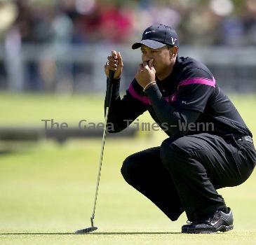
<instances>
[{"instance_id":1,"label":"golfer's raised hand gripping the top of the putter","mask_svg":"<svg viewBox=\"0 0 256 245\"><path fill-rule=\"evenodd\" d=\"M107 57L105 73L109 77L109 71L114 71L114 79L119 79L123 71L123 61L120 52L112 51L112 56Z\"/></svg>"}]
</instances>

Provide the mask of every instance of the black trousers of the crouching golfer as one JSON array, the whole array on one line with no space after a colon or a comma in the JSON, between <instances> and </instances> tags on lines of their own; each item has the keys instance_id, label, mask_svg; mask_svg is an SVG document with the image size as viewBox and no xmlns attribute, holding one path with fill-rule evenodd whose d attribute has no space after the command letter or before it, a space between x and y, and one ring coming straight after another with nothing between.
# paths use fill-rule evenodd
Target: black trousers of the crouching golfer
<instances>
[{"instance_id":1,"label":"black trousers of the crouching golfer","mask_svg":"<svg viewBox=\"0 0 256 245\"><path fill-rule=\"evenodd\" d=\"M168 138L159 147L130 155L121 174L172 221L183 211L196 221L226 208L216 190L243 183L255 162L252 143L202 133Z\"/></svg>"}]
</instances>

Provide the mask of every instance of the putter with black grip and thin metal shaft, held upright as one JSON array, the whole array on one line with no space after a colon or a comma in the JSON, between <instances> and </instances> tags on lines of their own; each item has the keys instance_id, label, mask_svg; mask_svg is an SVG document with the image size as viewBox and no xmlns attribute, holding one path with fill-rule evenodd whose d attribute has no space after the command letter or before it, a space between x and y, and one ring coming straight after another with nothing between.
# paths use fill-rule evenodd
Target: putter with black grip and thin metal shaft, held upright
<instances>
[{"instance_id":1,"label":"putter with black grip and thin metal shaft, held upright","mask_svg":"<svg viewBox=\"0 0 256 245\"><path fill-rule=\"evenodd\" d=\"M85 234L88 232L93 232L94 230L97 230L97 227L93 225L93 220L95 216L95 208L96 208L96 202L97 202L97 191L99 189L99 183L100 183L100 171L102 166L102 158L103 158L103 151L105 146L105 138L106 138L106 129L107 129L107 116L109 115L109 106L111 102L111 95L112 95L112 87L113 87L113 79L114 79L114 71L109 71L109 82L107 83L107 93L106 93L106 112L105 112L105 126L104 126L104 132L102 137L102 146L101 146L101 152L100 152L100 165L99 170L97 173L97 184L96 184L96 191L95 191L95 198L94 198L94 204L93 204L93 214L90 217L90 228L82 229L82 230L76 230L75 234Z\"/></svg>"}]
</instances>

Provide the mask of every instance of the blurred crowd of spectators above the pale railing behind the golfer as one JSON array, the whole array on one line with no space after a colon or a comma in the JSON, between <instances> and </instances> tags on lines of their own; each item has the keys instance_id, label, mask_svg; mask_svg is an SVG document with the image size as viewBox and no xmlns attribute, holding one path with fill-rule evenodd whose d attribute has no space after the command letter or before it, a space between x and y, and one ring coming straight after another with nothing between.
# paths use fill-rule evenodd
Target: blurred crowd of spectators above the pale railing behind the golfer
<instances>
[{"instance_id":1,"label":"blurred crowd of spectators above the pale railing behind the golfer","mask_svg":"<svg viewBox=\"0 0 256 245\"><path fill-rule=\"evenodd\" d=\"M181 44L256 45L255 0L1 0L0 10L22 43L131 43L159 22Z\"/></svg>"}]
</instances>

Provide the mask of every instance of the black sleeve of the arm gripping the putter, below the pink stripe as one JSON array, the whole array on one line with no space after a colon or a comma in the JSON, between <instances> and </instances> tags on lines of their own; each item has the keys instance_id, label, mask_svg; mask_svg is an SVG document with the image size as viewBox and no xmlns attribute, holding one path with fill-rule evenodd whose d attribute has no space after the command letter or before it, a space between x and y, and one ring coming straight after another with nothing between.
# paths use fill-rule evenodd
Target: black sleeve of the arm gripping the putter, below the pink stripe
<instances>
[{"instance_id":1,"label":"black sleeve of the arm gripping the putter, below the pink stripe","mask_svg":"<svg viewBox=\"0 0 256 245\"><path fill-rule=\"evenodd\" d=\"M134 82L134 81L133 81ZM107 83L109 80L107 79ZM144 111L147 111L147 104L133 97L129 90L121 99L119 94L120 79L113 81L112 99L110 102L109 114L107 119L107 132L121 132L128 127ZM105 97L106 112L106 97Z\"/></svg>"}]
</instances>

